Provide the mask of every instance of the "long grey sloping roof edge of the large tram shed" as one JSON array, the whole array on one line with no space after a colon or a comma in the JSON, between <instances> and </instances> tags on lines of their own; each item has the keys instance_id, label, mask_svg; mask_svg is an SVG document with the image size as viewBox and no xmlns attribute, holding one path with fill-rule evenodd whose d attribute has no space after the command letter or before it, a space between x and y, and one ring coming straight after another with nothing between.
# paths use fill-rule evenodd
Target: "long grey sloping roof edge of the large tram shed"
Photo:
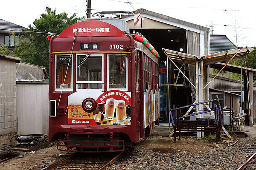
<instances>
[{"instance_id":1,"label":"long grey sloping roof edge of the large tram shed","mask_svg":"<svg viewBox=\"0 0 256 170\"><path fill-rule=\"evenodd\" d=\"M209 31L209 28L207 28L207 27L199 26L197 24L189 23L189 22L186 22L186 21L183 21L183 20L178 20L176 18L172 18L172 17L169 17L167 15L159 14L159 13L156 13L156 12L153 12L153 11L148 11L148 10L143 9L143 8L140 8L140 9L137 9L137 10L133 11L133 13L134 14L137 14L137 13L147 14L148 16L152 16L153 18L160 18L160 19L163 19L163 20L171 21L172 23L176 23L178 27L179 26L186 26L187 28L196 28L196 29L199 29L199 30L202 30L202 31ZM123 18L126 18L126 17L123 17Z\"/></svg>"}]
</instances>

